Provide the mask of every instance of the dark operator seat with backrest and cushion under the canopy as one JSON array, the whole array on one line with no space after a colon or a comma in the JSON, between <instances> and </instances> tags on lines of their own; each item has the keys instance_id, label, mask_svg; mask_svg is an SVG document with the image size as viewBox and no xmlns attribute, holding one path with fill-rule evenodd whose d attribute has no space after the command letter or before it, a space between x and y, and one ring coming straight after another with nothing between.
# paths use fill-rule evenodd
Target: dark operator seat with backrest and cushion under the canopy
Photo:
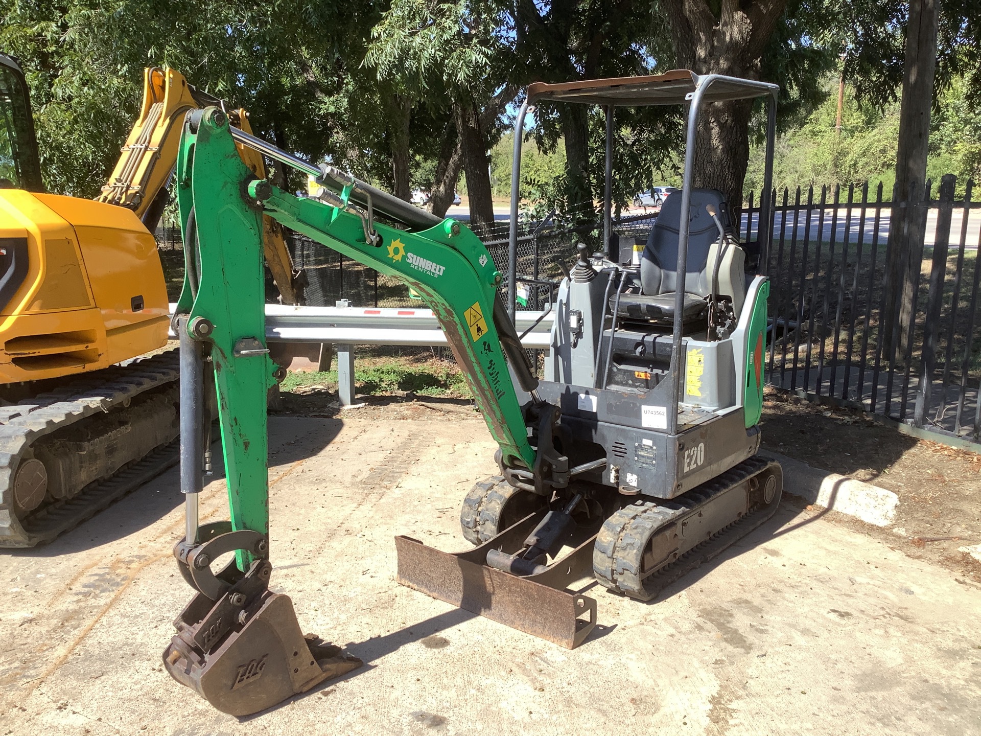
<instances>
[{"instance_id":1,"label":"dark operator seat with backrest and cushion under the canopy","mask_svg":"<svg viewBox=\"0 0 981 736\"><path fill-rule=\"evenodd\" d=\"M702 321L708 310L705 297L711 292L712 269L718 247L713 247L713 244L719 240L719 231L705 210L706 204L715 207L722 227L727 231L730 229L729 207L722 192L717 189L693 189L689 207L688 264L683 285L684 324ZM675 191L664 200L660 214L647 237L641 258L641 293L620 294L617 313L621 317L668 322L674 320L675 291L679 287L677 264L680 224L681 191ZM738 251L738 254L733 251ZM742 307L745 284L736 272L743 270L744 258L741 248L726 248L719 269L719 293L733 297L737 314ZM733 283L737 278L738 285Z\"/></svg>"}]
</instances>

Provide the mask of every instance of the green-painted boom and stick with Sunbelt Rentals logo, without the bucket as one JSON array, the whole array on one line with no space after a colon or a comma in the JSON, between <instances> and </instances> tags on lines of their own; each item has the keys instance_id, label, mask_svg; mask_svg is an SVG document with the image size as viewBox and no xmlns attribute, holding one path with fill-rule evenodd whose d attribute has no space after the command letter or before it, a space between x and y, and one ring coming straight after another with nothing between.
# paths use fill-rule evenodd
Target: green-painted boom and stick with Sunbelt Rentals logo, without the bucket
<instances>
[{"instance_id":1,"label":"green-painted boom and stick with Sunbelt Rentals logo, without the bucket","mask_svg":"<svg viewBox=\"0 0 981 736\"><path fill-rule=\"evenodd\" d=\"M421 232L368 220L350 204L352 184L336 196L336 206L294 196L257 177L235 146L228 116L209 108L188 118L178 158L181 222L193 235L185 243L187 268L177 313L186 315L191 328L198 325L188 336L205 344L214 365L232 526L265 534L268 521L262 511L265 390L272 385L274 364L265 345L263 216L419 291L446 332L503 463L534 467L536 452L499 334L501 326L511 334L513 328L501 319L496 294L501 276L484 243L451 219ZM375 192L373 211L384 207L380 193ZM260 346L243 347L248 341ZM247 472L232 472L243 464Z\"/></svg>"}]
</instances>

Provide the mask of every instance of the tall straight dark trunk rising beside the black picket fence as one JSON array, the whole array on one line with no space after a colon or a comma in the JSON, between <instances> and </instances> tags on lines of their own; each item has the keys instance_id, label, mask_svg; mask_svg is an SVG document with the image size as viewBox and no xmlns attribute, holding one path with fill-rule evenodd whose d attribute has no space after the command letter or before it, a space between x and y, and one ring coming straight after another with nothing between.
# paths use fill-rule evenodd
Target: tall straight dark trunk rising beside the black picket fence
<instances>
[{"instance_id":1,"label":"tall straight dark trunk rising beside the black picket fence","mask_svg":"<svg viewBox=\"0 0 981 736\"><path fill-rule=\"evenodd\" d=\"M891 357L891 363L904 359L909 324L915 313L916 278L923 258L927 214L923 196L933 79L937 69L937 14L936 0L911 0L909 3L894 195L894 201L904 202L905 206L893 207L890 215L890 259L883 315L883 324L894 327L886 334L886 354Z\"/></svg>"}]
</instances>

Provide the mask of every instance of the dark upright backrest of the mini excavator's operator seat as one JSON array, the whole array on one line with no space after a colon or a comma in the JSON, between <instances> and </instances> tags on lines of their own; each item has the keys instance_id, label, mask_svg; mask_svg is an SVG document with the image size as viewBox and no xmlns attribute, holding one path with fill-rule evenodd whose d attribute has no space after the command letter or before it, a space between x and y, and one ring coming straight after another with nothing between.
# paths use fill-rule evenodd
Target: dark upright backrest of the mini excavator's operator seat
<instances>
[{"instance_id":1,"label":"dark upright backrest of the mini excavator's operator seat","mask_svg":"<svg viewBox=\"0 0 981 736\"><path fill-rule=\"evenodd\" d=\"M688 293L707 296L711 289L711 274L707 267L708 251L719 239L719 231L705 211L711 204L719 215L722 227L730 227L729 207L717 189L692 189L689 206L688 264L684 289ZM678 228L681 224L681 191L672 192L661 205L661 212L647 237L641 258L641 289L648 296L678 289Z\"/></svg>"}]
</instances>

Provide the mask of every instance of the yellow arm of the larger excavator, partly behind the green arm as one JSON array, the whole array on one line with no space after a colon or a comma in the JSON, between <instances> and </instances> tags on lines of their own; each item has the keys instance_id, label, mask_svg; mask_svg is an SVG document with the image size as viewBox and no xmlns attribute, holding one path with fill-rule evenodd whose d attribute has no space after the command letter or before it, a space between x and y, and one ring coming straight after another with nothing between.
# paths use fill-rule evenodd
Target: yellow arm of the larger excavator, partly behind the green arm
<instances>
[{"instance_id":1,"label":"yellow arm of the larger excavator, partly behind the green arm","mask_svg":"<svg viewBox=\"0 0 981 736\"><path fill-rule=\"evenodd\" d=\"M167 202L167 184L174 173L181 139L181 124L188 110L207 105L226 108L224 101L195 89L180 72L150 67L143 76L143 104L129 132L122 155L112 176L97 199L132 210L147 230L153 232ZM244 110L226 110L237 128L252 132ZM266 176L262 155L238 147L238 154L256 177ZM287 304L296 304L300 295L293 285L292 259L283 229L271 218L264 221L264 249L273 280Z\"/></svg>"}]
</instances>

